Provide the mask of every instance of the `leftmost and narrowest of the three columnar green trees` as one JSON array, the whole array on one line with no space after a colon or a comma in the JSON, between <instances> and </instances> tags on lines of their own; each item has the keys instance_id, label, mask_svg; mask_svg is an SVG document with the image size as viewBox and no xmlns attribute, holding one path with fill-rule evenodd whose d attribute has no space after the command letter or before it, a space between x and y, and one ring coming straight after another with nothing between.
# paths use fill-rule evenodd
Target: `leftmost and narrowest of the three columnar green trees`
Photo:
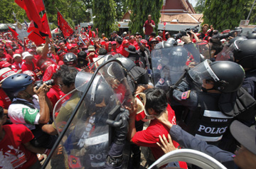
<instances>
[{"instance_id":1,"label":"leftmost and narrowest of the three columnar green trees","mask_svg":"<svg viewBox=\"0 0 256 169\"><path fill-rule=\"evenodd\" d=\"M117 30L117 23L114 21L116 11L114 10L114 0L95 0L92 3L93 27L99 28L99 33L109 35Z\"/></svg>"}]
</instances>

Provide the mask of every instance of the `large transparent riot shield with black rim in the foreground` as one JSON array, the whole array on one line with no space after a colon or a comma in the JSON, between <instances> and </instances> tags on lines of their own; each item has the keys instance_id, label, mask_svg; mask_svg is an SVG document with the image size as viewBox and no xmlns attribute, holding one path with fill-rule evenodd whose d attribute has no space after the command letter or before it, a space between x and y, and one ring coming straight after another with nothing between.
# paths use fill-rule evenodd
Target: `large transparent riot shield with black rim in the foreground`
<instances>
[{"instance_id":1,"label":"large transparent riot shield with black rim in the foreground","mask_svg":"<svg viewBox=\"0 0 256 169\"><path fill-rule=\"evenodd\" d=\"M132 101L118 60L102 63L94 74L78 72L75 90L55 106L59 138L43 168L103 168L111 125L118 127L118 114Z\"/></svg>"}]
</instances>

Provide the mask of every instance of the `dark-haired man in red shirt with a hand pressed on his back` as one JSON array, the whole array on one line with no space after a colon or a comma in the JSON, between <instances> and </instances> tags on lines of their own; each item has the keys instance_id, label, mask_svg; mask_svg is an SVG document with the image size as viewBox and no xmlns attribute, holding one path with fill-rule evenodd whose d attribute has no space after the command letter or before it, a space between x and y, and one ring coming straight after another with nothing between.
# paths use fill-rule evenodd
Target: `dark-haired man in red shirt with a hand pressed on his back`
<instances>
[{"instance_id":1,"label":"dark-haired man in red shirt with a hand pressed on his back","mask_svg":"<svg viewBox=\"0 0 256 169\"><path fill-rule=\"evenodd\" d=\"M164 151L161 151L161 148L156 144L159 142L159 136L164 134L167 137L169 133L169 129L158 119L167 113L171 124L176 124L176 116L174 110L167 104L164 90L151 88L146 90L145 94L146 104L144 111L147 112L146 119L151 119L150 124L146 130L137 132L135 128L136 111L131 112L132 110L130 109L128 139L137 146L150 147L155 160L157 160L164 155ZM173 141L173 143L176 148L179 146L176 141ZM183 162L179 162L179 165L181 168L186 167L186 163L184 164Z\"/></svg>"}]
</instances>

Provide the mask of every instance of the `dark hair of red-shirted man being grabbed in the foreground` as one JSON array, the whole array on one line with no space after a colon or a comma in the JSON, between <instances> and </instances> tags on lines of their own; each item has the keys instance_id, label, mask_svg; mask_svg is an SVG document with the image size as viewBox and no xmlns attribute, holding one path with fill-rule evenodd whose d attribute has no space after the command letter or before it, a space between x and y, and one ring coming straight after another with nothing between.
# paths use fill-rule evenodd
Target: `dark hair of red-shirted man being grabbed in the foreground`
<instances>
[{"instance_id":1,"label":"dark hair of red-shirted man being grabbed in the foreground","mask_svg":"<svg viewBox=\"0 0 256 169\"><path fill-rule=\"evenodd\" d=\"M164 90L151 88L145 91L146 94L146 105L145 109L154 109L156 114L161 114L162 111L166 110L167 98Z\"/></svg>"}]
</instances>

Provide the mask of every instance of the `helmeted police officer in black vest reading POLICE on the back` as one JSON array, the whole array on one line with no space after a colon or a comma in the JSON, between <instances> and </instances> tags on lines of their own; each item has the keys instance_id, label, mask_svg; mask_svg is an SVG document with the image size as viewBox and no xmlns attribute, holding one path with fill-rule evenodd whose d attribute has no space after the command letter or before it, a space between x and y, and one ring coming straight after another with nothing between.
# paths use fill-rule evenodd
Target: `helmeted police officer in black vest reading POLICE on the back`
<instances>
[{"instance_id":1,"label":"helmeted police officer in black vest reading POLICE on the back","mask_svg":"<svg viewBox=\"0 0 256 169\"><path fill-rule=\"evenodd\" d=\"M245 111L254 109L255 99L240 88L244 77L242 67L230 61L205 60L189 70L173 92L176 102L187 108L181 127L196 138L218 145L234 117L250 119L255 114Z\"/></svg>"}]
</instances>

